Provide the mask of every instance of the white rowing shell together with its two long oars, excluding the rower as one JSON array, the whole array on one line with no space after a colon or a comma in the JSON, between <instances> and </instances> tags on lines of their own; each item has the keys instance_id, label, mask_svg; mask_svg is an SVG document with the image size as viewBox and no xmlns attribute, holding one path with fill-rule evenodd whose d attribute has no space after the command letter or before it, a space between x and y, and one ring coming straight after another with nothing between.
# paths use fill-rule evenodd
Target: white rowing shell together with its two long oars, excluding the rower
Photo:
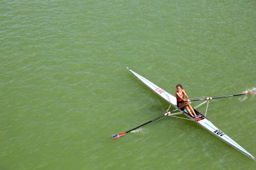
<instances>
[{"instance_id":1,"label":"white rowing shell together with its two long oars, excluding the rower","mask_svg":"<svg viewBox=\"0 0 256 170\"><path fill-rule=\"evenodd\" d=\"M244 155L247 155L247 157L255 160L255 157L253 157L253 155L251 155L249 152L247 152L245 150L245 148L243 148L242 146L240 146L239 144L237 144L236 142L234 142L234 140L232 140L228 135L226 135L224 132L222 132L219 128L217 128L216 126L214 126L214 124L212 124L212 122L210 122L210 120L208 120L205 116L203 116L203 114L201 114L200 112L198 112L197 110L195 110L195 113L197 114L196 118L192 118L188 113L187 110L184 110L183 107L178 108L177 106L177 98L174 97L173 95L171 95L170 93L164 91L163 89L161 89L160 87L158 87L157 85L155 85L154 83L152 83L151 81L149 81L148 79L142 77L141 75L135 73L135 71L132 71L131 69L129 69L127 67L127 69L133 74L135 75L135 77L137 77L137 79L139 79L142 83L144 83L147 87L149 87L150 89L152 89L152 91L154 91L156 94L160 95L160 97L162 97L164 100L166 100L168 103L170 103L170 105L172 105L174 108L176 108L176 110L179 110L181 113L185 114L190 120L193 120L194 122L196 122L197 124L199 124L200 126L202 126L203 128L205 128L206 130L208 130L209 132L211 132L212 134L214 134L214 136L217 136L218 138L220 138L221 140L223 140L224 142L230 144L230 146L236 148L238 151L240 151L241 153L243 153ZM239 95L245 95L243 94L239 94ZM224 96L224 97L233 97L233 96L238 96L238 95L228 95L228 96ZM208 101L210 99L213 99L213 97L203 97L202 99L207 99ZM215 97L220 98L220 97ZM198 100L202 100L202 99L194 99L193 101L198 101ZM205 101L206 102L206 101ZM172 112L176 111L173 110ZM168 114L164 114L162 116L159 116L158 118L155 118L154 120L150 120L149 122L146 122L145 124L141 124L141 126L144 126L146 124L149 124L150 122L154 122L155 120L158 120L159 118L162 118L164 116L173 116L176 114L172 114L172 112L169 112ZM136 128L139 128L141 126L137 126ZM131 132L132 130L135 130L136 128L133 128L131 130L128 130L127 132L124 133L120 133L120 134L115 134L113 136L113 139L115 138L119 138L120 136L124 136L125 134L127 134L128 132Z\"/></svg>"}]
</instances>

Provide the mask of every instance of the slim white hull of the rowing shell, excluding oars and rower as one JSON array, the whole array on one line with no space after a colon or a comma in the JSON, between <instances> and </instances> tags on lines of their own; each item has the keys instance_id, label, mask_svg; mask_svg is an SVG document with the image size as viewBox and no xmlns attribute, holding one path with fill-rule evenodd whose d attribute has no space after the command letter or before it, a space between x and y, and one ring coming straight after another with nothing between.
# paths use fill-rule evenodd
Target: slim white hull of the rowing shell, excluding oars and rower
<instances>
[{"instance_id":1,"label":"slim white hull of the rowing shell, excluding oars and rower","mask_svg":"<svg viewBox=\"0 0 256 170\"><path fill-rule=\"evenodd\" d=\"M139 79L147 87L152 89L152 91L154 91L156 94L160 95L160 97L162 97L164 100L166 100L168 103L170 103L170 105L174 106L174 108L179 109L181 112L183 112L183 114L185 114L189 119L193 120L195 123L199 124L200 126L205 128L206 130L208 130L209 132L214 134L214 136L217 136L218 138L220 138L221 140L223 140L224 142L226 142L230 146L236 148L238 151L240 151L244 155L247 155L247 157L255 160L255 157L253 157L253 155L251 155L249 152L247 152L245 150L245 148L243 148L242 146L240 146L239 144L234 142L234 140L232 140L232 138L230 138L228 135L226 135L224 132L222 132L222 130L220 130L219 128L214 126L214 124L212 124L212 122L210 122L210 120L208 120L205 116L203 116L203 114L201 114L200 112L198 112L197 110L194 109L195 113L197 115L199 115L199 118L197 118L197 119L192 118L187 113L186 110L182 110L181 108L178 108L178 106L177 106L177 98L176 97L174 97L173 95L171 95L167 91L164 91L163 89L161 89L160 87L158 87L157 85L155 85L154 83L149 81L148 79L146 79L146 78L142 77L141 75L135 73L135 71L132 71L128 67L127 67L127 69L133 75L135 75L135 77L137 77L137 79Z\"/></svg>"}]
</instances>

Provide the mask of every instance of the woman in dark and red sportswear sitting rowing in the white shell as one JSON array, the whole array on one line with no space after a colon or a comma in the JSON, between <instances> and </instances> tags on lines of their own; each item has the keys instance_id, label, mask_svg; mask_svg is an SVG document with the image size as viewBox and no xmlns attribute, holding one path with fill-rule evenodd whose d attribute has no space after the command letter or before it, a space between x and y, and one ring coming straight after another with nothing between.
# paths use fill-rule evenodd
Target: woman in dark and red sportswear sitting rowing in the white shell
<instances>
[{"instance_id":1,"label":"woman in dark and red sportswear sitting rowing in the white shell","mask_svg":"<svg viewBox=\"0 0 256 170\"><path fill-rule=\"evenodd\" d=\"M184 108L187 110L187 112L189 112L190 116L192 118L195 118L194 116L197 116L197 114L195 114L195 111L190 105L191 102L189 101L189 96L183 89L182 85L179 84L176 86L176 88L177 106L180 108L181 106L185 105ZM184 99L184 97L186 97L187 99Z\"/></svg>"}]
</instances>

